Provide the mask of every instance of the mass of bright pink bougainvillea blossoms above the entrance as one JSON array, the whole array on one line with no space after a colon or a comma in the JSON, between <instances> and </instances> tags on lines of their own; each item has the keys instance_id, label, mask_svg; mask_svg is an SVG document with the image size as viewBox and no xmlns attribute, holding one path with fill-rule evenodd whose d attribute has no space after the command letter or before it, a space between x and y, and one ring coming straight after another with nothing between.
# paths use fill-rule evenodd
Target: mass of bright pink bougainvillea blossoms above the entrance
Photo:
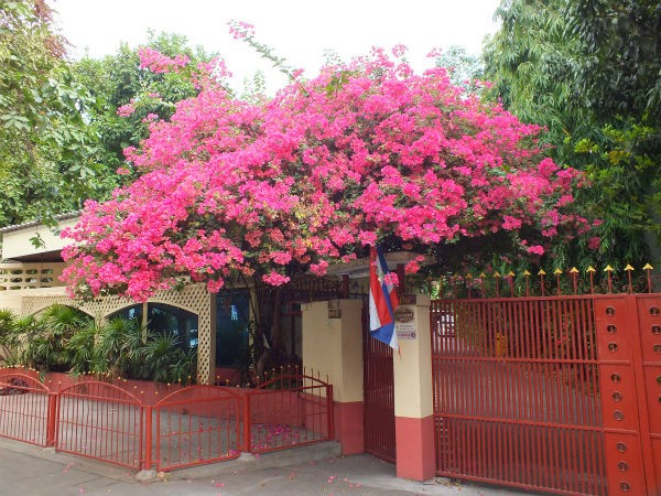
<instances>
[{"instance_id":1,"label":"mass of bright pink bougainvillea blossoms above the entrance","mask_svg":"<svg viewBox=\"0 0 661 496\"><path fill-rule=\"evenodd\" d=\"M77 241L65 278L79 294L144 300L184 277L218 291L238 273L273 285L293 269L322 276L386 236L433 247L586 229L568 211L579 175L541 157L539 131L445 69L418 75L378 50L259 105L207 80L126 151L142 175L88 201L64 233Z\"/></svg>"}]
</instances>

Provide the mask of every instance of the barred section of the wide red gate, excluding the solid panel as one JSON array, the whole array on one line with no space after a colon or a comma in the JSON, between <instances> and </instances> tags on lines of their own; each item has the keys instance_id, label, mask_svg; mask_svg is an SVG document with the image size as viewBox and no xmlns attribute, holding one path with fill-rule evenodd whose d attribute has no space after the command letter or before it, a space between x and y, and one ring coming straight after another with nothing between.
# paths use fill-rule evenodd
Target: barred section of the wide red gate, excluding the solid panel
<instances>
[{"instance_id":1,"label":"barred section of the wide red gate, excluding the solid panel","mask_svg":"<svg viewBox=\"0 0 661 496\"><path fill-rule=\"evenodd\" d=\"M606 494L589 296L431 308L438 475Z\"/></svg>"}]
</instances>

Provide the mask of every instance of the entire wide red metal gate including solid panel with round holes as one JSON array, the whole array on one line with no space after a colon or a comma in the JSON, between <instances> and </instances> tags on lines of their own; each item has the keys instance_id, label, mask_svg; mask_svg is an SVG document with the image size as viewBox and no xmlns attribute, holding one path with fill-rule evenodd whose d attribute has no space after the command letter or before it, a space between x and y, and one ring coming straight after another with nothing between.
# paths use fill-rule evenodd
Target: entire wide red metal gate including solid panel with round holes
<instances>
[{"instance_id":1,"label":"entire wide red metal gate including solid panel with round holes","mask_svg":"<svg viewBox=\"0 0 661 496\"><path fill-rule=\"evenodd\" d=\"M437 474L659 495L660 294L437 300Z\"/></svg>"}]
</instances>

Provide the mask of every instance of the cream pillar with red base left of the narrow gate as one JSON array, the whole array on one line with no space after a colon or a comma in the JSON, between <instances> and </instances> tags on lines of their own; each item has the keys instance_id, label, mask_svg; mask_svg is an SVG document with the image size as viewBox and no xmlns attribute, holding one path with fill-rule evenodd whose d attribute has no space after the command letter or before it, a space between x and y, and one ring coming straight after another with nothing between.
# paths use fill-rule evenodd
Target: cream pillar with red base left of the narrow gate
<instances>
[{"instance_id":1,"label":"cream pillar with red base left of the narrow gate","mask_svg":"<svg viewBox=\"0 0 661 496\"><path fill-rule=\"evenodd\" d=\"M307 303L303 313L303 366L328 376L335 402L335 436L343 454L362 453L362 301Z\"/></svg>"}]
</instances>

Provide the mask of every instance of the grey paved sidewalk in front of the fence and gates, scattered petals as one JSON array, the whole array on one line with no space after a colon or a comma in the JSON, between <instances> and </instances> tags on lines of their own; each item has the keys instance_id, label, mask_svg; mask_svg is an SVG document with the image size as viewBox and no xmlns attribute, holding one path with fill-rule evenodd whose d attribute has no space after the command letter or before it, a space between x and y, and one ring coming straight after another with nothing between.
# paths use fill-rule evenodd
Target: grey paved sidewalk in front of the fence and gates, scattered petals
<instances>
[{"instance_id":1,"label":"grey paved sidewalk in front of the fence and gates, scattered petals","mask_svg":"<svg viewBox=\"0 0 661 496\"><path fill-rule=\"evenodd\" d=\"M313 448L313 446L308 446ZM0 496L503 496L525 493L455 484L425 483L394 476L394 466L370 455L330 456L314 461L314 450L262 455L160 474L141 483L136 472L0 439ZM322 448L323 450L323 448ZM307 460L301 461L301 457ZM283 460L284 459L284 460ZM274 466L280 463L294 463Z\"/></svg>"}]
</instances>

